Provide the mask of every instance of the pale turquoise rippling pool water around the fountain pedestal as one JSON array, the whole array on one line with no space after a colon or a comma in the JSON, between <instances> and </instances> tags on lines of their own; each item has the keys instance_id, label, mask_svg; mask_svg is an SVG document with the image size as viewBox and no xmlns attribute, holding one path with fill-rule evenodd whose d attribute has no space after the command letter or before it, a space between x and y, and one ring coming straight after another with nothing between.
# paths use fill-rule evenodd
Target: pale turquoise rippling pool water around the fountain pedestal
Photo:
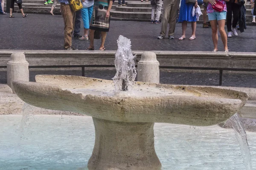
<instances>
[{"instance_id":1,"label":"pale turquoise rippling pool water around the fountain pedestal","mask_svg":"<svg viewBox=\"0 0 256 170\"><path fill-rule=\"evenodd\" d=\"M29 116L18 140L21 118L0 115L0 170L77 170L87 166L95 137L91 117ZM154 132L163 170L245 170L233 129L156 123ZM247 132L247 139L256 169L256 133Z\"/></svg>"}]
</instances>

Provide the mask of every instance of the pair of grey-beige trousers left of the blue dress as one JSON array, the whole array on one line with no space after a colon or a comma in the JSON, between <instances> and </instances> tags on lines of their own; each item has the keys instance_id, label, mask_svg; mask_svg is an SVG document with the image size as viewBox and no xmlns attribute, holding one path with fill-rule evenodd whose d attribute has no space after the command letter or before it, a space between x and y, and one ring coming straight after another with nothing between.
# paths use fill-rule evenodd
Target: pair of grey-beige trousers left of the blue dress
<instances>
[{"instance_id":1,"label":"pair of grey-beige trousers left of the blue dress","mask_svg":"<svg viewBox=\"0 0 256 170\"><path fill-rule=\"evenodd\" d=\"M164 0L163 1L162 28L160 32L160 35L162 37L166 36L168 22L169 22L168 36L174 35L179 4L180 4L180 0Z\"/></svg>"}]
</instances>

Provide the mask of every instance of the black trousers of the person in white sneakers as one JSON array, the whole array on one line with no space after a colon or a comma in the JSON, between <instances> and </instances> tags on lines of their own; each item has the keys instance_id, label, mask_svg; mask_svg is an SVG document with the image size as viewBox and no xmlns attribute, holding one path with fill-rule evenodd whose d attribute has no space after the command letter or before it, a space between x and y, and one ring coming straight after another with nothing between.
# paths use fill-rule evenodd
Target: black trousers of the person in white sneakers
<instances>
[{"instance_id":1,"label":"black trousers of the person in white sneakers","mask_svg":"<svg viewBox=\"0 0 256 170\"><path fill-rule=\"evenodd\" d=\"M236 28L236 25L239 20L240 6L232 2L227 2L227 31L231 31L232 13L233 13L232 27Z\"/></svg>"}]
</instances>

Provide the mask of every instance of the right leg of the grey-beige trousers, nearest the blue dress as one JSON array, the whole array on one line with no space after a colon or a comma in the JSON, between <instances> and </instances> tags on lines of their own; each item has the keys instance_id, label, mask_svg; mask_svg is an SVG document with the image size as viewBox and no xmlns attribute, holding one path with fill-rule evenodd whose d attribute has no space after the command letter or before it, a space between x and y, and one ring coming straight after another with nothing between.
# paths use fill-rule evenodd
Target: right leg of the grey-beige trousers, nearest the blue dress
<instances>
[{"instance_id":1,"label":"right leg of the grey-beige trousers, nearest the blue dress","mask_svg":"<svg viewBox=\"0 0 256 170\"><path fill-rule=\"evenodd\" d=\"M169 32L168 36L174 36L175 26L176 26L176 17L177 10L179 8L179 0L172 0L172 8L169 16Z\"/></svg>"}]
</instances>

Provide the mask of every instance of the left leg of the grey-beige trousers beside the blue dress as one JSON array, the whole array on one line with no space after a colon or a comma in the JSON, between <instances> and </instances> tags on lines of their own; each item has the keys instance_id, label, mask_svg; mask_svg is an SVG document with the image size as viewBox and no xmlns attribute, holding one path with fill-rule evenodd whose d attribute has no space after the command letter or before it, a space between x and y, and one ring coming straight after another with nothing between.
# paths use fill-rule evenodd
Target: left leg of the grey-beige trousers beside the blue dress
<instances>
[{"instance_id":1,"label":"left leg of the grey-beige trousers beside the blue dress","mask_svg":"<svg viewBox=\"0 0 256 170\"><path fill-rule=\"evenodd\" d=\"M164 0L163 1L162 28L161 28L161 32L160 32L160 35L162 37L166 36L167 24L170 19L170 12L171 12L171 8L172 8L171 2L172 2L172 0Z\"/></svg>"}]
</instances>

